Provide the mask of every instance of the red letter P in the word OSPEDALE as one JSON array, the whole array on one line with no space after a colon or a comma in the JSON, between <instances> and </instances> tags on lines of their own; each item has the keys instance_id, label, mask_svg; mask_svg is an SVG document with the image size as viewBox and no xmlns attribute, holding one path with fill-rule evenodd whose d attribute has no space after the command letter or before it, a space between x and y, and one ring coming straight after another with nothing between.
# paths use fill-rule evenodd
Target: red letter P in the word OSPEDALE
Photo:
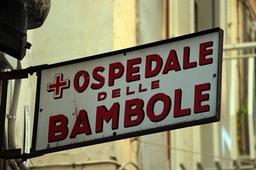
<instances>
[{"instance_id":1,"label":"red letter P in the word OSPEDALE","mask_svg":"<svg viewBox=\"0 0 256 170\"><path fill-rule=\"evenodd\" d=\"M115 71L118 69L118 72ZM124 74L124 66L122 63L112 63L109 65L109 86L114 86L114 80L122 77Z\"/></svg>"}]
</instances>

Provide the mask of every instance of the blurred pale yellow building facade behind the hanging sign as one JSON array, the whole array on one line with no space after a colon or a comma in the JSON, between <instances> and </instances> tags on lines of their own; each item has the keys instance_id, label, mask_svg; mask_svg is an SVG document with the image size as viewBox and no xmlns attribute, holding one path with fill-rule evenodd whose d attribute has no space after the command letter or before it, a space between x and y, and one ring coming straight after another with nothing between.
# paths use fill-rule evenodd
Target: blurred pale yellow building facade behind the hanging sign
<instances>
[{"instance_id":1,"label":"blurred pale yellow building facade behind the hanging sign","mask_svg":"<svg viewBox=\"0 0 256 170\"><path fill-rule=\"evenodd\" d=\"M31 169L253 169L255 166L255 0L51 1L22 68L93 56L215 27L224 30L221 120L45 154ZM254 24L253 24L254 23ZM17 66L16 66L17 67ZM8 109L14 94L9 83ZM17 106L16 147L32 138L36 75L23 79ZM25 109L26 108L26 109ZM25 113L29 114L26 117ZM29 119L30 127L25 125ZM9 118L7 118L6 129ZM7 138L8 138L7 132ZM26 142L25 142L26 141ZM8 144L9 142L7 142ZM12 162L9 162L12 163ZM13 161L15 166L15 162ZM24 163L24 162L23 162ZM221 166L221 167L220 167ZM8 169L12 169L9 165Z\"/></svg>"}]
</instances>

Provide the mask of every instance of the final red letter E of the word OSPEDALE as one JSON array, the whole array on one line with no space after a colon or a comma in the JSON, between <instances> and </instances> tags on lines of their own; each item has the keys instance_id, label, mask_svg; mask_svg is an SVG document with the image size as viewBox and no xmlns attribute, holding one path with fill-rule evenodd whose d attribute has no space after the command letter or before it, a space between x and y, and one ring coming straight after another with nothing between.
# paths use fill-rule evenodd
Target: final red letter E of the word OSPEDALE
<instances>
[{"instance_id":1,"label":"final red letter E of the word OSPEDALE","mask_svg":"<svg viewBox=\"0 0 256 170\"><path fill-rule=\"evenodd\" d=\"M207 47L212 47L212 46L213 46L212 41L200 44L200 48L199 48L199 65L200 66L212 64L213 62L212 58L208 58L208 59L205 58L208 55L212 55L212 49L206 50Z\"/></svg>"}]
</instances>

